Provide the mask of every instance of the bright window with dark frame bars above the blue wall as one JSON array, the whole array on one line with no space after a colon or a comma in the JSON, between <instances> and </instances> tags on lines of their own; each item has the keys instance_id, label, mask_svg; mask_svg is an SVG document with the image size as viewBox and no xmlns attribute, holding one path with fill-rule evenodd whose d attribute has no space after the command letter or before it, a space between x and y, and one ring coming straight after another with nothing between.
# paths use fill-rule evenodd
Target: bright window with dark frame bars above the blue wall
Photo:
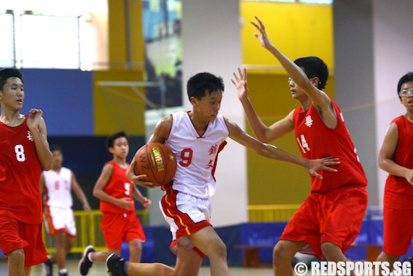
<instances>
[{"instance_id":1,"label":"bright window with dark frame bars above the blue wall","mask_svg":"<svg viewBox=\"0 0 413 276\"><path fill-rule=\"evenodd\" d=\"M79 17L0 14L0 66L80 68Z\"/></svg>"}]
</instances>

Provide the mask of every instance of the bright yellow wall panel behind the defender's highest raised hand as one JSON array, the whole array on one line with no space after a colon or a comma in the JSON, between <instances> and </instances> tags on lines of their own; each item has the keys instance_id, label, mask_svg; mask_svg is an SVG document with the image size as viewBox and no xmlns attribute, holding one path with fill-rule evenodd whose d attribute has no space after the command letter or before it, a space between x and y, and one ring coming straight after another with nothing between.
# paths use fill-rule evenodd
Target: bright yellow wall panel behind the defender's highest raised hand
<instances>
[{"instance_id":1,"label":"bright yellow wall panel behind the defender's highest raised hand","mask_svg":"<svg viewBox=\"0 0 413 276\"><path fill-rule=\"evenodd\" d=\"M332 6L303 3L242 1L241 29L243 63L280 65L254 37L250 21L257 15L268 37L290 59L316 56L334 67Z\"/></svg>"}]
</instances>

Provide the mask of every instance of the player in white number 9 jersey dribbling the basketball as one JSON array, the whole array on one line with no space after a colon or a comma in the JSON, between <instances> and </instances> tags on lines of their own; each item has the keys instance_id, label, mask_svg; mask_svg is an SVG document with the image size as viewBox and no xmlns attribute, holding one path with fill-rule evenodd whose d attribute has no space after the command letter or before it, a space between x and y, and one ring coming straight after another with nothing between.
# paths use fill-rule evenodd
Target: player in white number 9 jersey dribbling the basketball
<instances>
[{"instance_id":1,"label":"player in white number 9 jersey dribbling the basketball","mask_svg":"<svg viewBox=\"0 0 413 276\"><path fill-rule=\"evenodd\" d=\"M225 244L210 224L209 197L214 195L214 168L218 152L230 137L251 148L259 155L288 161L321 177L317 170L336 171L328 166L339 164L337 159L303 159L275 146L263 144L245 133L239 126L219 114L223 97L223 80L203 72L191 77L187 84L192 110L177 112L159 121L150 143L164 143L177 157L177 172L169 184L162 186L165 196L160 205L172 232L171 249L177 253L174 275L195 276L206 255L210 259L211 275L230 275ZM126 175L134 184L153 188L134 175L134 161ZM107 260L112 275L139 275L139 268L120 257ZM136 268L136 269L135 269Z\"/></svg>"}]
</instances>

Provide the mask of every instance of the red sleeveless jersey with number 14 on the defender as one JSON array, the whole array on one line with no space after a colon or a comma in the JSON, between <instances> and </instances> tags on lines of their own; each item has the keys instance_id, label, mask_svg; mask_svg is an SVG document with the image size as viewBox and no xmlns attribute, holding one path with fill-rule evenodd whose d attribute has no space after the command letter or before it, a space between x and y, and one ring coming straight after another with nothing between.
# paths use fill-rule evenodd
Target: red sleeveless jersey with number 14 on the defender
<instances>
[{"instance_id":1,"label":"red sleeveless jersey with number 14 on the defender","mask_svg":"<svg viewBox=\"0 0 413 276\"><path fill-rule=\"evenodd\" d=\"M292 115L296 141L304 158L318 159L332 156L339 158L341 162L334 166L337 172L319 170L323 179L311 175L312 192L326 192L346 184L367 186L367 178L345 126L343 114L334 101L332 106L337 115L337 126L334 129L325 126L312 104L307 111L303 111L303 107L296 108Z\"/></svg>"}]
</instances>

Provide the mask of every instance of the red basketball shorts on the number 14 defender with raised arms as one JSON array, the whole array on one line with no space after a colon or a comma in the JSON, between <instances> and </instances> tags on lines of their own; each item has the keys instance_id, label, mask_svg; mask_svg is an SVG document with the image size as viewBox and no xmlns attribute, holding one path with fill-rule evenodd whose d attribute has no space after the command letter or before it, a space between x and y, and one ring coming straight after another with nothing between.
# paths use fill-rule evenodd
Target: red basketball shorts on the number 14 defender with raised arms
<instances>
[{"instance_id":1,"label":"red basketball shorts on the number 14 defender with raised arms","mask_svg":"<svg viewBox=\"0 0 413 276\"><path fill-rule=\"evenodd\" d=\"M345 186L326 193L311 193L285 226L281 240L305 241L301 253L322 259L321 244L331 242L347 251L359 235L367 191L364 186Z\"/></svg>"}]
</instances>

